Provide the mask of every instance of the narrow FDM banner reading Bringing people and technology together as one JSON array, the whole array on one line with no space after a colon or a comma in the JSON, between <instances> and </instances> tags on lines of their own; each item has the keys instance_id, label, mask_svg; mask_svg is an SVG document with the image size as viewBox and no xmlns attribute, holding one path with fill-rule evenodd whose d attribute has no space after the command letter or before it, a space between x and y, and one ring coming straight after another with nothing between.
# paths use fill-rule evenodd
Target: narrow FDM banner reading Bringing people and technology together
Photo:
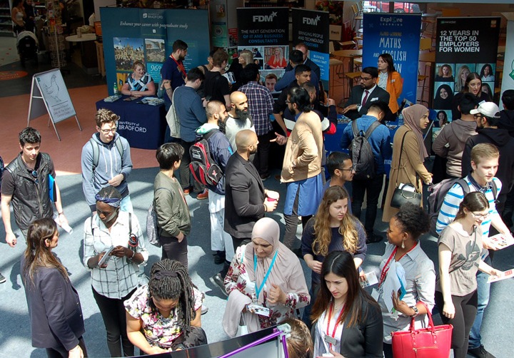
<instances>
[{"instance_id":1,"label":"narrow FDM banner reading Bringing people and technology together","mask_svg":"<svg viewBox=\"0 0 514 358\"><path fill-rule=\"evenodd\" d=\"M303 42L309 58L319 66L323 88L328 91L330 14L327 11L293 9L293 45Z\"/></svg>"}]
</instances>

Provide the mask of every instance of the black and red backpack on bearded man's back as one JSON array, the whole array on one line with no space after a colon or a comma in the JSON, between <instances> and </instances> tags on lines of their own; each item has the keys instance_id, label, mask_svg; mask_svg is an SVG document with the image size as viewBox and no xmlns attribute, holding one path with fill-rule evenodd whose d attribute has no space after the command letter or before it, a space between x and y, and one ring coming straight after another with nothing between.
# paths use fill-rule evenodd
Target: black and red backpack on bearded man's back
<instances>
[{"instance_id":1,"label":"black and red backpack on bearded man's back","mask_svg":"<svg viewBox=\"0 0 514 358\"><path fill-rule=\"evenodd\" d=\"M207 142L208 138L217 132L219 132L218 129L212 129L189 147L189 157L191 158L189 168L193 173L193 178L203 185L216 186L223 178L223 172L213 160Z\"/></svg>"}]
</instances>

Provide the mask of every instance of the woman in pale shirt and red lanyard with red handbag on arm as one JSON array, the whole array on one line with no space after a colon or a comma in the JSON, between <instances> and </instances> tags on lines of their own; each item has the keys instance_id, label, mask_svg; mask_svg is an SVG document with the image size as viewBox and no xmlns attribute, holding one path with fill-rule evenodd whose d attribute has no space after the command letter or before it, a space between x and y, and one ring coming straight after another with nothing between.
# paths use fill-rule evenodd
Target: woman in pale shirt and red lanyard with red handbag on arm
<instances>
[{"instance_id":1,"label":"woman in pale shirt and red lanyard with red handbag on arm","mask_svg":"<svg viewBox=\"0 0 514 358\"><path fill-rule=\"evenodd\" d=\"M378 304L381 305L384 331L383 351L385 358L393 358L391 332L405 331L410 327L410 320L415 317L415 327L426 327L427 310L435 305L435 270L433 262L421 249L420 236L430 230L430 218L420 206L412 203L403 204L389 221L387 230L388 243L380 265L378 284ZM400 300L395 292L383 292L383 282L390 274L389 267L395 262L398 269L405 271L405 296ZM385 306L384 297L392 297L396 313L391 314ZM423 302L425 305L418 303Z\"/></svg>"}]
</instances>

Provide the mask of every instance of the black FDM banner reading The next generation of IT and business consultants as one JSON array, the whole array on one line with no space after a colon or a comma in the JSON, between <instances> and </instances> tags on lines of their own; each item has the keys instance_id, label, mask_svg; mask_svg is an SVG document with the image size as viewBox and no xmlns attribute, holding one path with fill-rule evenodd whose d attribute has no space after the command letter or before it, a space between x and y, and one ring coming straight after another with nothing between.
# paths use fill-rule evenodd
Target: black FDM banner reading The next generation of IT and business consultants
<instances>
[{"instance_id":1,"label":"black FDM banner reading The next generation of IT and business consultants","mask_svg":"<svg viewBox=\"0 0 514 358\"><path fill-rule=\"evenodd\" d=\"M275 92L275 84L289 63L289 9L286 7L238 8L238 53L253 53L261 84Z\"/></svg>"}]
</instances>

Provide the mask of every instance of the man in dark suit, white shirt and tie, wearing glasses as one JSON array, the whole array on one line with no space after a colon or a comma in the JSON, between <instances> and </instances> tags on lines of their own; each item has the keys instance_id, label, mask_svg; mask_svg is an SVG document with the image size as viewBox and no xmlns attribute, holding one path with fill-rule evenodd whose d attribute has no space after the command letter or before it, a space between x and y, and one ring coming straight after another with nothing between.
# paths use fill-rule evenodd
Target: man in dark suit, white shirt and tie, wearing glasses
<instances>
[{"instance_id":1,"label":"man in dark suit, white shirt and tie, wearing glasses","mask_svg":"<svg viewBox=\"0 0 514 358\"><path fill-rule=\"evenodd\" d=\"M343 108L343 114L352 121L368 113L372 104L380 101L389 103L389 93L378 87L378 68L365 67L361 75L361 86L352 88L350 98Z\"/></svg>"}]
</instances>

